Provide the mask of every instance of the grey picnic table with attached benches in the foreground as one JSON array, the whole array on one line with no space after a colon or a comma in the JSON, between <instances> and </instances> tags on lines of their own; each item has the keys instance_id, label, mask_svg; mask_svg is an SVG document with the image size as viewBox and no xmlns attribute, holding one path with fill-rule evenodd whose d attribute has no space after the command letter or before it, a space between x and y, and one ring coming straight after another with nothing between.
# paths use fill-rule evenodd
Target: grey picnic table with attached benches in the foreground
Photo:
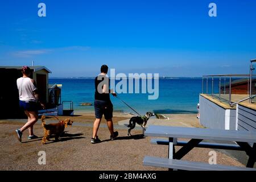
<instances>
[{"instance_id":1,"label":"grey picnic table with attached benches in the foreground","mask_svg":"<svg viewBox=\"0 0 256 182\"><path fill-rule=\"evenodd\" d=\"M189 127L149 126L145 133L148 137L166 137L168 139L152 139L152 144L168 144L168 158L145 156L146 166L165 167L181 170L253 170L256 160L256 132L237 130L200 129ZM188 142L178 138L190 139ZM235 142L234 144L202 142L203 140L219 140ZM253 143L252 146L249 143ZM175 146L182 146L175 151ZM249 156L246 167L224 166L180 160L194 147L218 148L225 150L245 151Z\"/></svg>"}]
</instances>

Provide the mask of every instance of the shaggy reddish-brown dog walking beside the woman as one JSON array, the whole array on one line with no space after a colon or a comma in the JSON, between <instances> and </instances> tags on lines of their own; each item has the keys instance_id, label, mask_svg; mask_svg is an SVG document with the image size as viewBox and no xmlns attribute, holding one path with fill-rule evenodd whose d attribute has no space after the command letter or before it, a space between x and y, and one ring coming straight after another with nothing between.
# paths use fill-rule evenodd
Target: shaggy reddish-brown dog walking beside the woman
<instances>
[{"instance_id":1,"label":"shaggy reddish-brown dog walking beside the woman","mask_svg":"<svg viewBox=\"0 0 256 182\"><path fill-rule=\"evenodd\" d=\"M70 119L65 119L64 121L59 121L59 123L51 123L46 125L46 116L42 115L42 126L44 127L44 137L42 139L42 144L46 143L46 140L49 141L49 137L52 134L55 134L55 141L59 140L60 135L63 133L65 127L72 125L73 121Z\"/></svg>"}]
</instances>

